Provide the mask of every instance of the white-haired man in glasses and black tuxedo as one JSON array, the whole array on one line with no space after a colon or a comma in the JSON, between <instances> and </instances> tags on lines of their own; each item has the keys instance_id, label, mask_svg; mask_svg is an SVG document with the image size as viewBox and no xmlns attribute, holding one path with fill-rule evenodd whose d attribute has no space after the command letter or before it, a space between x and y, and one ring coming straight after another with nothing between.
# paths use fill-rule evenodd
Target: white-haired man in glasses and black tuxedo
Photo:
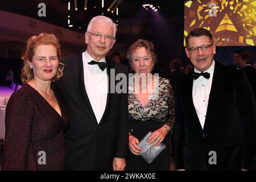
<instances>
[{"instance_id":1,"label":"white-haired man in glasses and black tuxedo","mask_svg":"<svg viewBox=\"0 0 256 182\"><path fill-rule=\"evenodd\" d=\"M85 32L86 51L63 58L64 75L57 84L71 121L65 133L66 170L125 169L127 86L117 93L115 76L127 76L128 70L106 57L116 31L112 19L94 17Z\"/></svg>"}]
</instances>

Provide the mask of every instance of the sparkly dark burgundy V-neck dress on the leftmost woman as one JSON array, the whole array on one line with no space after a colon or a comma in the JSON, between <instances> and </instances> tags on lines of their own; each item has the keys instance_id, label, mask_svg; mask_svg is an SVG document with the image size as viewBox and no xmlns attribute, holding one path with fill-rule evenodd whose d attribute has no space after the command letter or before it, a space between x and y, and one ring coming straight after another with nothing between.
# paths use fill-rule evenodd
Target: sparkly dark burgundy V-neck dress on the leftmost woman
<instances>
[{"instance_id":1,"label":"sparkly dark burgundy V-neck dress on the leftmost woman","mask_svg":"<svg viewBox=\"0 0 256 182\"><path fill-rule=\"evenodd\" d=\"M6 107L2 170L63 170L68 116L55 92L61 116L30 85L15 92Z\"/></svg>"}]
</instances>

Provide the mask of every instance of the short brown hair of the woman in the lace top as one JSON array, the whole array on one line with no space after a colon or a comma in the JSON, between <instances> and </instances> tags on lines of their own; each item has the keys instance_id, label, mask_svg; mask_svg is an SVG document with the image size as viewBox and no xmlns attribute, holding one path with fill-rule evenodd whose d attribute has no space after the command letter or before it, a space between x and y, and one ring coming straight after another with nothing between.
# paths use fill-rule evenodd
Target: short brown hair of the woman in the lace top
<instances>
[{"instance_id":1,"label":"short brown hair of the woman in the lace top","mask_svg":"<svg viewBox=\"0 0 256 182\"><path fill-rule=\"evenodd\" d=\"M127 59L129 59L129 65L131 66L131 61L133 59L133 53L138 49L144 47L148 55L152 57L153 63L158 63L158 57L155 53L155 46L150 40L138 39L136 42L131 44L127 51Z\"/></svg>"}]
</instances>

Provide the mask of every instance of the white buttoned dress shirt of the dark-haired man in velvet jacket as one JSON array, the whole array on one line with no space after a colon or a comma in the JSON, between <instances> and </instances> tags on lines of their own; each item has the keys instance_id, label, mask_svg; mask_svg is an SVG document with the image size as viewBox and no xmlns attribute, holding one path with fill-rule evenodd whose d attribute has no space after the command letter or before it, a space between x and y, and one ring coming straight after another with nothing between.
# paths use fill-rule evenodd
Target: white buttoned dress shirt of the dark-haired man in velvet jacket
<instances>
[{"instance_id":1,"label":"white buttoned dress shirt of the dark-haired man in velvet jacket","mask_svg":"<svg viewBox=\"0 0 256 182\"><path fill-rule=\"evenodd\" d=\"M199 118L202 129L204 129L205 117L207 115L207 106L210 95L210 88L212 87L212 78L214 72L215 61L213 60L212 65L204 71L210 73L209 79L200 76L196 80L193 80L193 104L196 109L197 117ZM196 73L201 73L196 68L194 69Z\"/></svg>"}]
</instances>

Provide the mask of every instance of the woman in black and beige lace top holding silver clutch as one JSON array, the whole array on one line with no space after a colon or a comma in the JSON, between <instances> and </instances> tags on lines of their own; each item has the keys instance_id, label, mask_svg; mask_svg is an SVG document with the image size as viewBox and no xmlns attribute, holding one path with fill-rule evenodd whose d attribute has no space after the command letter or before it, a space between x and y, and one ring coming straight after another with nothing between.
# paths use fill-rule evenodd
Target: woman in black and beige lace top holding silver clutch
<instances>
[{"instance_id":1,"label":"woman in black and beige lace top holding silver clutch","mask_svg":"<svg viewBox=\"0 0 256 182\"><path fill-rule=\"evenodd\" d=\"M130 158L126 170L170 170L170 138L174 123L174 93L170 80L152 75L157 59L154 44L139 39L127 52L127 58L135 74L129 78L129 149ZM148 164L139 154L139 141L152 132L148 142L166 148Z\"/></svg>"}]
</instances>

